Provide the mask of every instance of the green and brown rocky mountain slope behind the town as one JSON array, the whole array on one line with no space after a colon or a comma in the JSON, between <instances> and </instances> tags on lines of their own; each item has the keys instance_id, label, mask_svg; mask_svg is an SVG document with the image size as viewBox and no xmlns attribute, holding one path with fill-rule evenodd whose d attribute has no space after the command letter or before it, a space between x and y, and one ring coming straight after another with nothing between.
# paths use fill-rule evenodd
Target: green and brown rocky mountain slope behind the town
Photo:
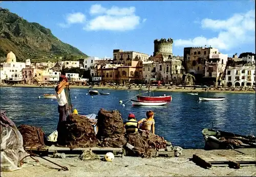
<instances>
[{"instance_id":1,"label":"green and brown rocky mountain slope behind the town","mask_svg":"<svg viewBox=\"0 0 256 177\"><path fill-rule=\"evenodd\" d=\"M28 22L0 7L0 57L12 51L18 61L50 56L87 57L76 47L61 42L50 29Z\"/></svg>"}]
</instances>

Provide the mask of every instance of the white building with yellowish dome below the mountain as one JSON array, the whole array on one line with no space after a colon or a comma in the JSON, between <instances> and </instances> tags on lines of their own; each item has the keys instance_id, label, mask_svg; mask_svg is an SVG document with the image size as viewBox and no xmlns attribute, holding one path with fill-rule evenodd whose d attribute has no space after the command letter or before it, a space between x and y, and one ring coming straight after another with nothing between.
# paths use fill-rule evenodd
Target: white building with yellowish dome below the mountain
<instances>
[{"instance_id":1,"label":"white building with yellowish dome below the mountain","mask_svg":"<svg viewBox=\"0 0 256 177\"><path fill-rule=\"evenodd\" d=\"M16 62L16 56L13 52L7 54L6 62L3 63L1 70L1 80L22 81L22 69L26 68L26 64Z\"/></svg>"}]
</instances>

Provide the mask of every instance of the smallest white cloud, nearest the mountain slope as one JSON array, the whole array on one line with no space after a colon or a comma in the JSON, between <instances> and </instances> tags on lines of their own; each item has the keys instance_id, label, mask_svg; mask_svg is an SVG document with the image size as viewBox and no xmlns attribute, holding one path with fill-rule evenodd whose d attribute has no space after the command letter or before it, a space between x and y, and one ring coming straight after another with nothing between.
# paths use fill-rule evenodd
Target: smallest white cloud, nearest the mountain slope
<instances>
[{"instance_id":1,"label":"smallest white cloud, nearest the mountain slope","mask_svg":"<svg viewBox=\"0 0 256 177\"><path fill-rule=\"evenodd\" d=\"M86 21L86 15L81 12L70 13L66 16L66 23L58 23L61 28L69 28L74 23L84 23Z\"/></svg>"}]
</instances>

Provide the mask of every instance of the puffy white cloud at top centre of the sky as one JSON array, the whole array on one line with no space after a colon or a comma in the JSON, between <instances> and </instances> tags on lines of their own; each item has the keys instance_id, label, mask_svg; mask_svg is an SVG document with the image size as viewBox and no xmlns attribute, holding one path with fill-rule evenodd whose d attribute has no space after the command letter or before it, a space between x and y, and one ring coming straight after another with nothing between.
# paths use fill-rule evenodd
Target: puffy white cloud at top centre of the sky
<instances>
[{"instance_id":1,"label":"puffy white cloud at top centre of the sky","mask_svg":"<svg viewBox=\"0 0 256 177\"><path fill-rule=\"evenodd\" d=\"M88 31L133 30L140 24L140 17L135 14L135 10L135 7L119 8L113 6L110 9L107 9L98 4L92 5L90 14L97 16L88 21L83 29Z\"/></svg>"}]
</instances>

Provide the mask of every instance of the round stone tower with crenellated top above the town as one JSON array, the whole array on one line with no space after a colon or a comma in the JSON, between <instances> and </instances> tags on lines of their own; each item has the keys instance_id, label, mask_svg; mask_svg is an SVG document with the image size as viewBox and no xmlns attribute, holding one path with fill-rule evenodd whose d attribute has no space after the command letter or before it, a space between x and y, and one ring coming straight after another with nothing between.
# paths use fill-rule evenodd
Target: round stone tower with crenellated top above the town
<instances>
[{"instance_id":1,"label":"round stone tower with crenellated top above the town","mask_svg":"<svg viewBox=\"0 0 256 177\"><path fill-rule=\"evenodd\" d=\"M173 39L154 40L154 56L162 54L164 58L173 56Z\"/></svg>"}]
</instances>

